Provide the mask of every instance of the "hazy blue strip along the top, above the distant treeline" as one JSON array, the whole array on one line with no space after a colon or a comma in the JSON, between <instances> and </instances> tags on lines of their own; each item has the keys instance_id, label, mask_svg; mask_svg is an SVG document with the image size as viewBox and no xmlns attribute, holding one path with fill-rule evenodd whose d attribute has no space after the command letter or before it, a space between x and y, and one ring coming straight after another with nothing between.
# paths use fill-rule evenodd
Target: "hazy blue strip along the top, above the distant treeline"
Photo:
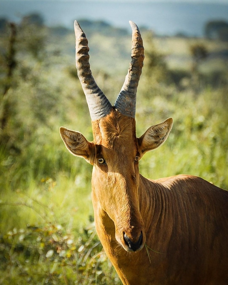
<instances>
[{"instance_id":1,"label":"hazy blue strip along the top, above the distant treeline","mask_svg":"<svg viewBox=\"0 0 228 285\"><path fill-rule=\"evenodd\" d=\"M43 16L48 27L71 29L74 20L89 19L130 31L128 21L132 20L158 35L182 33L191 37L202 37L205 24L210 20L228 20L227 4L202 1L1 1L0 18L20 22L23 16L34 12Z\"/></svg>"}]
</instances>

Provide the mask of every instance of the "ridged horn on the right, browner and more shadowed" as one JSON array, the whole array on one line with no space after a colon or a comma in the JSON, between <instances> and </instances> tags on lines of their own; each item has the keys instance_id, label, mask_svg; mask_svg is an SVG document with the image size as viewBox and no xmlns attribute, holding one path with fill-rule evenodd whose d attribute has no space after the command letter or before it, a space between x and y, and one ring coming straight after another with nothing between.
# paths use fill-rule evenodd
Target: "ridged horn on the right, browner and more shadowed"
<instances>
[{"instance_id":1,"label":"ridged horn on the right, browner and more shadowed","mask_svg":"<svg viewBox=\"0 0 228 285\"><path fill-rule=\"evenodd\" d=\"M132 28L131 63L128 68L124 85L116 99L114 107L123 115L134 118L136 106L136 92L142 73L144 60L143 40L137 25L129 21Z\"/></svg>"}]
</instances>

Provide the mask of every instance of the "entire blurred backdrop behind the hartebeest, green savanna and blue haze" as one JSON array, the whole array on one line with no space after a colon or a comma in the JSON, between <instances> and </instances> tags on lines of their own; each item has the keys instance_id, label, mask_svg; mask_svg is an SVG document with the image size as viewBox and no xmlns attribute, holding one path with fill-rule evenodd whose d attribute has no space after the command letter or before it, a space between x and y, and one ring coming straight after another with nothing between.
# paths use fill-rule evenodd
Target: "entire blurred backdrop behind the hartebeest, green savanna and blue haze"
<instances>
[{"instance_id":1,"label":"entire blurred backdrop behind the hartebeest, green savanna and blue haze","mask_svg":"<svg viewBox=\"0 0 228 285\"><path fill-rule=\"evenodd\" d=\"M128 21L140 28L137 136L174 120L141 174L228 189L228 1L0 0L0 284L122 284L94 229L92 167L59 135L64 126L93 140L75 19L112 104L130 63Z\"/></svg>"}]
</instances>

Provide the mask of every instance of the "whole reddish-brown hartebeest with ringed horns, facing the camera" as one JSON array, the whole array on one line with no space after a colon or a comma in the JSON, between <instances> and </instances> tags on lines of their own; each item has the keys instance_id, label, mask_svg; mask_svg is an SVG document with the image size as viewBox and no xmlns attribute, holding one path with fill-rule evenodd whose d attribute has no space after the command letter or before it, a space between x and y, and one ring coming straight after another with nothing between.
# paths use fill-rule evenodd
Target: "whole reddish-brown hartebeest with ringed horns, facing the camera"
<instances>
[{"instance_id":1,"label":"whole reddish-brown hartebeest with ringed horns, facing the camera","mask_svg":"<svg viewBox=\"0 0 228 285\"><path fill-rule=\"evenodd\" d=\"M136 137L136 91L144 48L132 27L132 61L111 105L90 70L85 33L74 22L76 68L94 140L60 128L67 149L93 165L96 231L123 284L228 284L228 192L200 177L150 180L139 174L144 153L165 142L173 119Z\"/></svg>"}]
</instances>

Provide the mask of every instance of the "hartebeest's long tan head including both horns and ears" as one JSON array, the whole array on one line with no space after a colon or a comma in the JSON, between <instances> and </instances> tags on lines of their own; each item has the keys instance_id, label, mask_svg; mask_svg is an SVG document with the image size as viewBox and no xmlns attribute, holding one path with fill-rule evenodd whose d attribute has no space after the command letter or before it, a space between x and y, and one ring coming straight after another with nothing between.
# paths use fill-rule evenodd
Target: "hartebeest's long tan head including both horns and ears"
<instances>
[{"instance_id":1,"label":"hartebeest's long tan head including both horns and ears","mask_svg":"<svg viewBox=\"0 0 228 285\"><path fill-rule=\"evenodd\" d=\"M70 153L93 165L92 200L95 214L99 212L95 216L109 217L110 224L115 226L114 238L128 252L141 250L146 239L141 216L139 160L166 140L173 122L169 118L136 137L136 92L144 48L137 25L131 21L130 25L132 61L112 106L92 76L88 41L78 22L74 22L76 68L89 107L94 140L89 142L80 132L60 128Z\"/></svg>"}]
</instances>

